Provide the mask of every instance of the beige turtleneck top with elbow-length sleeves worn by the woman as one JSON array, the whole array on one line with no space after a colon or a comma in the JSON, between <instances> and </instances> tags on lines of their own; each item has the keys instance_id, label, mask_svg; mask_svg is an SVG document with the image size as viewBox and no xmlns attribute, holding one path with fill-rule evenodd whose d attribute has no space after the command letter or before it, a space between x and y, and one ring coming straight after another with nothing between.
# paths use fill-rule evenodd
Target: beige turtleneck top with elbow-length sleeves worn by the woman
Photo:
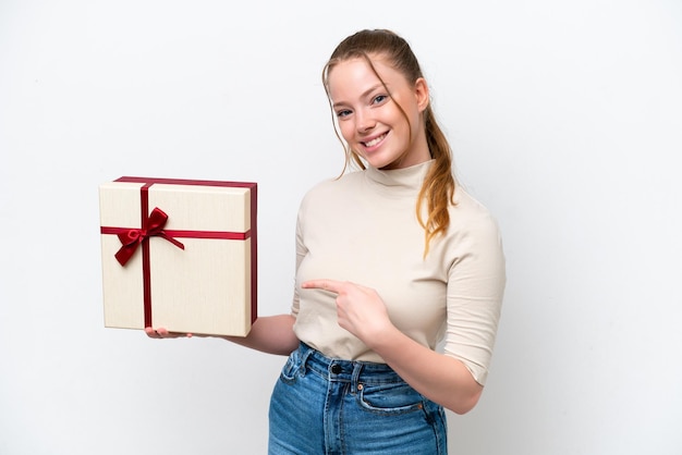
<instances>
[{"instance_id":1,"label":"beige turtleneck top with elbow-length sleeves worn by the woman","mask_svg":"<svg viewBox=\"0 0 682 455\"><path fill-rule=\"evenodd\" d=\"M339 327L334 295L301 288L313 279L351 281L375 288L403 333L431 349L442 345L485 384L506 284L502 243L488 210L458 186L450 228L424 258L416 198L431 163L368 168L305 195L296 228L294 332L327 356L382 362Z\"/></svg>"}]
</instances>

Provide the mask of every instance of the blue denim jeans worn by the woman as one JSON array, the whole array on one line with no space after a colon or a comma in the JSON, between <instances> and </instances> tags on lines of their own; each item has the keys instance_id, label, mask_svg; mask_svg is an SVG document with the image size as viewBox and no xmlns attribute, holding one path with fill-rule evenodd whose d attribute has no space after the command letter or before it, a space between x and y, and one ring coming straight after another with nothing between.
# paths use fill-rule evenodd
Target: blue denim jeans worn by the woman
<instances>
[{"instance_id":1,"label":"blue denim jeans worn by the woman","mask_svg":"<svg viewBox=\"0 0 682 455\"><path fill-rule=\"evenodd\" d=\"M269 455L444 455L446 414L383 364L301 343L270 399Z\"/></svg>"}]
</instances>

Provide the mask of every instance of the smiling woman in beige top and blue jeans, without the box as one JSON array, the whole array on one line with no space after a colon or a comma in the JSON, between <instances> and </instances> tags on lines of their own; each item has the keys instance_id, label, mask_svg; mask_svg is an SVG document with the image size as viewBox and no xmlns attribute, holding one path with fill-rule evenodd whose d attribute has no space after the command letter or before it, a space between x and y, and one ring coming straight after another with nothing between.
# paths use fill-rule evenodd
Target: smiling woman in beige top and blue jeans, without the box
<instances>
[{"instance_id":1,"label":"smiling woman in beige top and blue jeans, without the box","mask_svg":"<svg viewBox=\"0 0 682 455\"><path fill-rule=\"evenodd\" d=\"M289 355L270 454L446 454L443 407L471 410L488 372L506 281L498 226L456 185L404 39L358 32L322 79L346 168L360 169L301 204L291 313L229 340Z\"/></svg>"}]
</instances>

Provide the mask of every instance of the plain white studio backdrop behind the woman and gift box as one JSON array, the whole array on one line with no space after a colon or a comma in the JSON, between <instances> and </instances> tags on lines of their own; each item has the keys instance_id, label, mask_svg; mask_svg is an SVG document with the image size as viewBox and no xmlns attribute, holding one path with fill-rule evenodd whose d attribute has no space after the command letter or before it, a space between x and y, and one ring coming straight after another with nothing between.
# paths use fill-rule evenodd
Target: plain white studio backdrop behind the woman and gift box
<instances>
[{"instance_id":1,"label":"plain white studio backdrop behind the woman and gift box","mask_svg":"<svg viewBox=\"0 0 682 455\"><path fill-rule=\"evenodd\" d=\"M0 0L0 454L264 454L283 362L105 329L97 186L259 184L261 315L337 175L320 71L365 27L421 59L509 283L456 454L682 453L682 3Z\"/></svg>"}]
</instances>

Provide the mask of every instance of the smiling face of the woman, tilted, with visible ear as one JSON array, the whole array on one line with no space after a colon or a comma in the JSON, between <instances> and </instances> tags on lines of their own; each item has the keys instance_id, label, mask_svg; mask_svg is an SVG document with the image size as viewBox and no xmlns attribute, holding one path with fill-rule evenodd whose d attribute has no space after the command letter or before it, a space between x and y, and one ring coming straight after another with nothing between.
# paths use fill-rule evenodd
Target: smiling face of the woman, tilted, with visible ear
<instances>
[{"instance_id":1,"label":"smiling face of the woman, tilted, with visible ear","mask_svg":"<svg viewBox=\"0 0 682 455\"><path fill-rule=\"evenodd\" d=\"M329 95L341 135L373 168L400 169L430 160L423 119L428 106L426 82L411 84L379 56L370 58L388 90L361 58L342 61L329 72Z\"/></svg>"}]
</instances>

